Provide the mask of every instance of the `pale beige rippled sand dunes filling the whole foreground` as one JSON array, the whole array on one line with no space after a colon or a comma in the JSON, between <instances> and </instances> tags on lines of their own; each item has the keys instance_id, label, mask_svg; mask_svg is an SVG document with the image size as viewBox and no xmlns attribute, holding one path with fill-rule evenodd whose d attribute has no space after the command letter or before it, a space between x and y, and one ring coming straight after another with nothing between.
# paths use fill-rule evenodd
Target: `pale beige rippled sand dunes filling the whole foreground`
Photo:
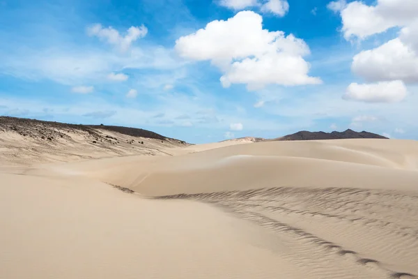
<instances>
[{"instance_id":1,"label":"pale beige rippled sand dunes filling the whole foreground","mask_svg":"<svg viewBox=\"0 0 418 279\"><path fill-rule=\"evenodd\" d=\"M418 142L159 149L3 156L0 278L418 275Z\"/></svg>"}]
</instances>

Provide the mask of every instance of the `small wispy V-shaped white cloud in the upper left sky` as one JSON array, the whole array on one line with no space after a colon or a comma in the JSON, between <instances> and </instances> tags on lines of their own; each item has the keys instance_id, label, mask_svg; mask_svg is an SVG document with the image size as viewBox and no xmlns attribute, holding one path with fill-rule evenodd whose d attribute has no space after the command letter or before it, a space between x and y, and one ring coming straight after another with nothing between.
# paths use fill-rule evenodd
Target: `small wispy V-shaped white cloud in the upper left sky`
<instances>
[{"instance_id":1,"label":"small wispy V-shaped white cloud in the upper left sky","mask_svg":"<svg viewBox=\"0 0 418 279\"><path fill-rule=\"evenodd\" d=\"M122 36L119 31L113 27L102 27L101 24L94 24L88 27L87 33L89 36L96 36L101 40L106 40L107 43L115 45L120 50L125 51L129 49L130 45L139 38L144 38L148 33L148 29L141 25L140 27L130 27L127 29L125 36Z\"/></svg>"}]
</instances>

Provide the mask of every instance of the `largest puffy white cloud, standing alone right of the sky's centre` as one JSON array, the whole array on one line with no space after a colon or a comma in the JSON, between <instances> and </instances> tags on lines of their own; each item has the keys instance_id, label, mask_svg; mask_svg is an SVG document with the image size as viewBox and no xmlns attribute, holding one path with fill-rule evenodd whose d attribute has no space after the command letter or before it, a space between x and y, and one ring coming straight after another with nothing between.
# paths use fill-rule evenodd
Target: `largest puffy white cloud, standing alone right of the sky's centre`
<instances>
[{"instance_id":1,"label":"largest puffy white cloud, standing alone right of the sky's centre","mask_svg":"<svg viewBox=\"0 0 418 279\"><path fill-rule=\"evenodd\" d=\"M267 84L321 83L307 75L310 66L302 57L310 52L304 40L263 29L263 18L251 11L209 22L205 29L176 40L176 50L188 59L210 60L224 73L224 87L247 84L251 90Z\"/></svg>"}]
</instances>

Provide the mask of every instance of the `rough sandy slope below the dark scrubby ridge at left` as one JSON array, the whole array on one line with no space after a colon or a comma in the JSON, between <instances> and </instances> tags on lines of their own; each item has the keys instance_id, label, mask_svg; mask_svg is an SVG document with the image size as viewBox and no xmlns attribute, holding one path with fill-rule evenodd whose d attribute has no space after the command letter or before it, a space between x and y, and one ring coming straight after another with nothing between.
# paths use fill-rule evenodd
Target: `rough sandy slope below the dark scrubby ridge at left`
<instances>
[{"instance_id":1,"label":"rough sandy slope below the dark scrubby ridge at left","mask_svg":"<svg viewBox=\"0 0 418 279\"><path fill-rule=\"evenodd\" d=\"M0 165L33 165L34 163L69 162L138 154L143 156L171 155L167 151L174 147L185 146L176 140L162 141L132 137L109 130L95 130L102 140L74 129L59 132L65 137L55 137L50 141L0 130Z\"/></svg>"}]
</instances>

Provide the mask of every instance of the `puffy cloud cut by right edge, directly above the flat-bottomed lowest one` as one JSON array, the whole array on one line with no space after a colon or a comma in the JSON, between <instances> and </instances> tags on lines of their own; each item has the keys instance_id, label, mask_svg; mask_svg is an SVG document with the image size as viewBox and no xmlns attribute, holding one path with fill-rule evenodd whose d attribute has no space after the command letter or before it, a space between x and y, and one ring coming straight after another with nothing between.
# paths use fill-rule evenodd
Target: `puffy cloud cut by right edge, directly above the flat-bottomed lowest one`
<instances>
[{"instance_id":1,"label":"puffy cloud cut by right edge, directly above the flat-bottomed lowest one","mask_svg":"<svg viewBox=\"0 0 418 279\"><path fill-rule=\"evenodd\" d=\"M417 53L396 38L373 50L355 55L351 69L353 73L370 82L382 80L418 82Z\"/></svg>"}]
</instances>

